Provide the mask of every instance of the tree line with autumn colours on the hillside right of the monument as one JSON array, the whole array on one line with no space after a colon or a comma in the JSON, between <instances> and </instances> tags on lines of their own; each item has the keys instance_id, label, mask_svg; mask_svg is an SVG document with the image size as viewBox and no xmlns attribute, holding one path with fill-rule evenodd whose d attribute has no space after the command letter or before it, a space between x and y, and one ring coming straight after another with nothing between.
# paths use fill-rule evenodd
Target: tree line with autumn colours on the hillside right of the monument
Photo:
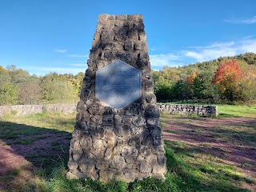
<instances>
[{"instance_id":1,"label":"tree line with autumn colours on the hillside right of the monument","mask_svg":"<svg viewBox=\"0 0 256 192\"><path fill-rule=\"evenodd\" d=\"M158 101L256 101L256 54L246 53L152 71Z\"/></svg>"}]
</instances>

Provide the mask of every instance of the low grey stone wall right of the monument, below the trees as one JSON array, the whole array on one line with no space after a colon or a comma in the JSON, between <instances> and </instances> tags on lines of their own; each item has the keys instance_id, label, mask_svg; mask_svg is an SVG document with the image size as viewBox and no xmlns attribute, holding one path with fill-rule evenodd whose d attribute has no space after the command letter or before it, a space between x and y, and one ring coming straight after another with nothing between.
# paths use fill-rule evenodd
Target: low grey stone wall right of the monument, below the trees
<instances>
[{"instance_id":1,"label":"low grey stone wall right of the monument, below the trees","mask_svg":"<svg viewBox=\"0 0 256 192\"><path fill-rule=\"evenodd\" d=\"M196 114L205 117L217 117L218 106L194 106L187 104L158 103L159 110L168 114Z\"/></svg>"}]
</instances>

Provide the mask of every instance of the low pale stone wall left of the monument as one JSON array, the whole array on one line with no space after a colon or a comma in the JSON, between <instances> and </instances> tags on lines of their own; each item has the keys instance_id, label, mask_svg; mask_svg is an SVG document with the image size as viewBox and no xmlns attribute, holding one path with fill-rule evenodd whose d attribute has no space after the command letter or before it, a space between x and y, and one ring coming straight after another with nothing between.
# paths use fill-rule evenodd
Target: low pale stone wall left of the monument
<instances>
[{"instance_id":1,"label":"low pale stone wall left of the monument","mask_svg":"<svg viewBox=\"0 0 256 192\"><path fill-rule=\"evenodd\" d=\"M7 114L25 116L29 114L42 114L44 112L71 114L76 111L76 106L77 104L0 106L0 117Z\"/></svg>"}]
</instances>

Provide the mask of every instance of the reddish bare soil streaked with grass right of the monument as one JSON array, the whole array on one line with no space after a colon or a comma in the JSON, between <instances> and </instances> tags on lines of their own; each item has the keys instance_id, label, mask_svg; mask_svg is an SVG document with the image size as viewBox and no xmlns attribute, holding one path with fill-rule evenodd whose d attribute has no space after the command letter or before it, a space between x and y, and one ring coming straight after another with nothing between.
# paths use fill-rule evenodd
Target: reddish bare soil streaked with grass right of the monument
<instances>
[{"instance_id":1,"label":"reddish bare soil streaked with grass right of the monument","mask_svg":"<svg viewBox=\"0 0 256 192\"><path fill-rule=\"evenodd\" d=\"M164 121L163 138L196 146L256 178L256 118L188 119ZM256 191L253 184L245 187Z\"/></svg>"}]
</instances>

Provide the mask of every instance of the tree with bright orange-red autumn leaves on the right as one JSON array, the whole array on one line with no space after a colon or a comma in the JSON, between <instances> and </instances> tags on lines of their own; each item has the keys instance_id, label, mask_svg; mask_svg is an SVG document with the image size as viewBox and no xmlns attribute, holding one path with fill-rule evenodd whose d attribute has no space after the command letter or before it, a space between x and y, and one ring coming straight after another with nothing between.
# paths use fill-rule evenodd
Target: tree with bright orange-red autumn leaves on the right
<instances>
[{"instance_id":1,"label":"tree with bright orange-red autumn leaves on the right","mask_svg":"<svg viewBox=\"0 0 256 192\"><path fill-rule=\"evenodd\" d=\"M212 83L218 86L219 93L223 98L234 101L240 97L239 82L242 71L239 69L237 60L231 60L218 67Z\"/></svg>"}]
</instances>

